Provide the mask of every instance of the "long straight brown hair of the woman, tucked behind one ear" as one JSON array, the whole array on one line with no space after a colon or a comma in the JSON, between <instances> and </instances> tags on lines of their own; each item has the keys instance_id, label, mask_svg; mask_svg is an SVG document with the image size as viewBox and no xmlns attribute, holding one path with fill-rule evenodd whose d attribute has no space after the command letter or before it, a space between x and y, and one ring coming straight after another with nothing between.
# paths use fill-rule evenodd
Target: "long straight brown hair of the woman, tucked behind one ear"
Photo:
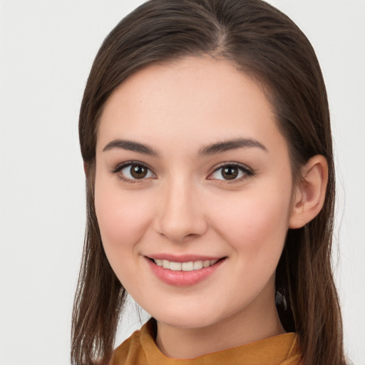
<instances>
[{"instance_id":1,"label":"long straight brown hair of the woman, tucked behind one ear","mask_svg":"<svg viewBox=\"0 0 365 365\"><path fill-rule=\"evenodd\" d=\"M73 364L108 364L125 289L101 242L93 187L96 133L103 106L125 78L158 61L184 56L226 58L264 88L287 140L294 182L314 155L324 155L329 181L319 215L289 230L276 275L277 309L299 336L303 364L344 364L341 314L331 270L334 162L327 93L314 50L282 12L260 0L151 0L126 16L103 42L81 105L87 226L73 322Z\"/></svg>"}]
</instances>

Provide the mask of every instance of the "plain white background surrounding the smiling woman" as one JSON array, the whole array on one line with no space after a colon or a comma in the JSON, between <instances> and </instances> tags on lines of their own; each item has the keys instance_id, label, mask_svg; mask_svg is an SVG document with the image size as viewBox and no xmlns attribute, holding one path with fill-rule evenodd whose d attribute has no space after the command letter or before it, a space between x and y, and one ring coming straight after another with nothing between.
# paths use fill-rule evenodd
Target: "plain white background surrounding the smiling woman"
<instances>
[{"instance_id":1,"label":"plain white background surrounding the smiling woman","mask_svg":"<svg viewBox=\"0 0 365 365\"><path fill-rule=\"evenodd\" d=\"M78 110L103 38L141 2L0 1L3 365L69 363L85 222ZM364 365L365 0L271 2L312 41L327 83L344 340L352 361ZM137 327L138 317L131 314L118 341Z\"/></svg>"}]
</instances>

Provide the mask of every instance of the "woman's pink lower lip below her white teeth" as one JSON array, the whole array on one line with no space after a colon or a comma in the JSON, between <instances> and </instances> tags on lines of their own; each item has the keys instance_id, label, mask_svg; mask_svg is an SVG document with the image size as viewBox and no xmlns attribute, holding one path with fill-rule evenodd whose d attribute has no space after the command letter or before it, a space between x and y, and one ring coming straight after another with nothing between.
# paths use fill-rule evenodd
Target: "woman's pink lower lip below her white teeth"
<instances>
[{"instance_id":1,"label":"woman's pink lower lip below her white teeth","mask_svg":"<svg viewBox=\"0 0 365 365\"><path fill-rule=\"evenodd\" d=\"M197 284L198 282L202 282L202 280L210 277L210 275L212 275L225 261L225 259L220 259L220 261L216 262L212 266L203 267L202 269L198 270L173 271L158 266L147 257L145 259L150 265L150 269L152 270L153 274L155 274L158 279L162 280L166 284L174 285L175 287L187 287Z\"/></svg>"}]
</instances>

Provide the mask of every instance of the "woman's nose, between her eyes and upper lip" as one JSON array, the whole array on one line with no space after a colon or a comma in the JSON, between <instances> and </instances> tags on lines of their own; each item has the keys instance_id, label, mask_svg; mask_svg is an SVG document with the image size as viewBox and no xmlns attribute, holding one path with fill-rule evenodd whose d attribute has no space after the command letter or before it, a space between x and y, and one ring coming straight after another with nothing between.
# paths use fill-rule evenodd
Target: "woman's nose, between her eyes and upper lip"
<instances>
[{"instance_id":1,"label":"woman's nose, between her eyes and upper lip","mask_svg":"<svg viewBox=\"0 0 365 365\"><path fill-rule=\"evenodd\" d=\"M178 178L166 185L158 199L155 231L173 242L204 235L207 220L197 188Z\"/></svg>"}]
</instances>

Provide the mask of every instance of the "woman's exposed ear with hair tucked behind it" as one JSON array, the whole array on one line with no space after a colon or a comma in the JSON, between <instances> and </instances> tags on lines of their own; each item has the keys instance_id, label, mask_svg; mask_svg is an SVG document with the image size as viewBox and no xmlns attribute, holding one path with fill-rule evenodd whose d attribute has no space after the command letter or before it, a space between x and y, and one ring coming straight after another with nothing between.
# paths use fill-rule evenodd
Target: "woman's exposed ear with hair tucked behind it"
<instances>
[{"instance_id":1,"label":"woman's exposed ear with hair tucked behind it","mask_svg":"<svg viewBox=\"0 0 365 365\"><path fill-rule=\"evenodd\" d=\"M289 228L300 228L321 211L328 180L327 160L322 155L310 158L302 168L302 182L296 187Z\"/></svg>"}]
</instances>

